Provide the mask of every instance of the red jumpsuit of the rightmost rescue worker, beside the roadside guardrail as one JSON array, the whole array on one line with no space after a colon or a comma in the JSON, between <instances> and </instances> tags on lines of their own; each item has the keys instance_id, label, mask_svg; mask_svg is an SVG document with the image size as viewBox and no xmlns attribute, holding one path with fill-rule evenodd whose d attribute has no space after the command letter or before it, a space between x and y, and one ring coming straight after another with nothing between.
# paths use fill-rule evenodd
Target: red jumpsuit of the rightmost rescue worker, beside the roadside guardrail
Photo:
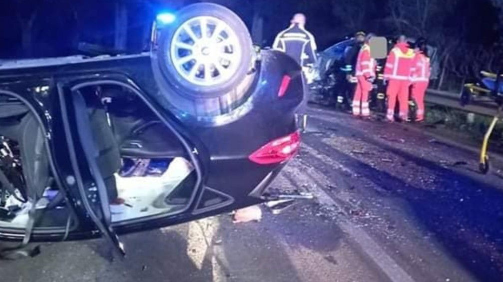
<instances>
[{"instance_id":1,"label":"red jumpsuit of the rightmost rescue worker, beside the roadside guardrail","mask_svg":"<svg viewBox=\"0 0 503 282\"><path fill-rule=\"evenodd\" d=\"M425 119L425 93L430 83L430 58L423 52L415 54L412 72L412 98L417 105L416 121Z\"/></svg>"}]
</instances>

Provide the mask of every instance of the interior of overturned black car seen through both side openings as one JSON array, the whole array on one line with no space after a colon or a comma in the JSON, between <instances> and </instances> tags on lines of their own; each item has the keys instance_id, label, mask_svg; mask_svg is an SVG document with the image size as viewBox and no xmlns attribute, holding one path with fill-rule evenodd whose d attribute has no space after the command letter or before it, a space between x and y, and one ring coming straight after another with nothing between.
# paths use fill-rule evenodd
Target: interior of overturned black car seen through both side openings
<instances>
[{"instance_id":1,"label":"interior of overturned black car seen through both side openings","mask_svg":"<svg viewBox=\"0 0 503 282\"><path fill-rule=\"evenodd\" d=\"M136 93L100 85L72 95L85 101L87 116L81 118L99 151L96 162L113 223L177 213L190 204L197 175L188 153ZM52 177L44 140L28 107L0 96L0 227L23 228L40 198L49 204L37 227L69 224L69 208ZM75 149L80 157L81 148Z\"/></svg>"}]
</instances>

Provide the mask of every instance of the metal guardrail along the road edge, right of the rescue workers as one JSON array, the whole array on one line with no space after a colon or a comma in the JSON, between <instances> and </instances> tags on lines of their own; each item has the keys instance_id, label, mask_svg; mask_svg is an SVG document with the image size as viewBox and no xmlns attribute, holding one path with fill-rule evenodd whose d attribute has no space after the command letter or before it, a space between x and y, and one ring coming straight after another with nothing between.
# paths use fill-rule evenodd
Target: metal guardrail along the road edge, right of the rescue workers
<instances>
[{"instance_id":1,"label":"metal guardrail along the road edge, right of the rescue workers","mask_svg":"<svg viewBox=\"0 0 503 282\"><path fill-rule=\"evenodd\" d=\"M472 101L469 105L462 107L459 103L459 94L435 89L427 90L425 101L426 103L484 116L494 116L497 111L496 104L489 98L480 97Z\"/></svg>"}]
</instances>

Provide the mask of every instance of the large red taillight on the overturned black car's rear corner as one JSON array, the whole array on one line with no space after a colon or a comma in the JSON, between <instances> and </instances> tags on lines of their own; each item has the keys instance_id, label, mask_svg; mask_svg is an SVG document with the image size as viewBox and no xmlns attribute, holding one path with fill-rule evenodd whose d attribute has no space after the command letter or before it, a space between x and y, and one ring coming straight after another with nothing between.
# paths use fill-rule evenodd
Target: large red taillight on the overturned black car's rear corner
<instances>
[{"instance_id":1,"label":"large red taillight on the overturned black car's rear corner","mask_svg":"<svg viewBox=\"0 0 503 282\"><path fill-rule=\"evenodd\" d=\"M292 158L300 147L300 133L295 131L273 140L251 154L248 159L258 164L280 163Z\"/></svg>"}]
</instances>

